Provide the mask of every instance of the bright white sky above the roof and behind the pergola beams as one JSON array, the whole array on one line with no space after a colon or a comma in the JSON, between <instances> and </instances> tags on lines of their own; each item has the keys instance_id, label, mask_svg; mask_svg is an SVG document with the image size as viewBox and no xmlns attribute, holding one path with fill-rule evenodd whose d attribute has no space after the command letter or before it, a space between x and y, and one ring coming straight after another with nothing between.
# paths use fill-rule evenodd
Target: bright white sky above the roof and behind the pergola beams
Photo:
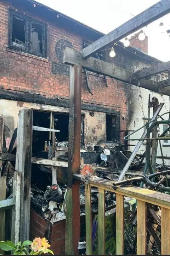
<instances>
[{"instance_id":1,"label":"bright white sky above the roof and behind the pergola beams","mask_svg":"<svg viewBox=\"0 0 170 256\"><path fill-rule=\"evenodd\" d=\"M159 0L36 0L103 33L108 33ZM160 22L163 22L160 29ZM143 28L148 36L148 54L170 60L170 14Z\"/></svg>"}]
</instances>

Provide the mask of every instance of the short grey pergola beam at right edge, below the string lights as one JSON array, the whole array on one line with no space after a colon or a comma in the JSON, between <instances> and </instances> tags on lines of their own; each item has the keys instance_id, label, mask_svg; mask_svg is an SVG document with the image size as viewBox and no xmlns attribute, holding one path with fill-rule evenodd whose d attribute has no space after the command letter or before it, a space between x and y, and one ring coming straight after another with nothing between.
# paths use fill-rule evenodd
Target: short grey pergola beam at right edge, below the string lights
<instances>
[{"instance_id":1,"label":"short grey pergola beam at right edge, below the string lights","mask_svg":"<svg viewBox=\"0 0 170 256\"><path fill-rule=\"evenodd\" d=\"M131 80L133 79L141 79L145 77L151 77L152 75L159 74L161 72L164 72L166 70L170 69L170 61L159 63L156 65L153 65L149 68L144 68L142 70L138 70L132 75Z\"/></svg>"}]
</instances>

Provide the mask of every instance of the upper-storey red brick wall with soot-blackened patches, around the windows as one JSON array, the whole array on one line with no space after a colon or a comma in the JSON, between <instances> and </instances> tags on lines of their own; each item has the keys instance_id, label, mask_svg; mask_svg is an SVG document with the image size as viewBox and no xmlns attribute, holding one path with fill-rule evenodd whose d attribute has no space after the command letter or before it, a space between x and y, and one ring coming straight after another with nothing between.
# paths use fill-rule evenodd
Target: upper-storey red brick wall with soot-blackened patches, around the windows
<instances>
[{"instance_id":1,"label":"upper-storey red brick wall with soot-blackened patches, around the windows","mask_svg":"<svg viewBox=\"0 0 170 256\"><path fill-rule=\"evenodd\" d=\"M47 27L47 57L42 59L26 53L19 53L8 48L8 12L6 4L0 4L0 88L36 93L51 97L69 97L69 75L60 73L57 64L62 61L57 58L55 48L60 47L59 40L72 43L75 50L82 49L82 38L52 23ZM18 12L24 12L19 10ZM31 15L30 15L31 16ZM39 17L34 17L39 19ZM46 22L46 21L44 21ZM62 69L62 68L61 68ZM53 70L53 71L52 71ZM55 73L57 70L57 74ZM59 74L58 74L59 73ZM93 95L86 88L84 75L82 86L82 101L110 107L121 113L121 130L126 129L127 117L126 93L123 83L107 78L108 88L105 86L104 78L89 74L89 85Z\"/></svg>"}]
</instances>

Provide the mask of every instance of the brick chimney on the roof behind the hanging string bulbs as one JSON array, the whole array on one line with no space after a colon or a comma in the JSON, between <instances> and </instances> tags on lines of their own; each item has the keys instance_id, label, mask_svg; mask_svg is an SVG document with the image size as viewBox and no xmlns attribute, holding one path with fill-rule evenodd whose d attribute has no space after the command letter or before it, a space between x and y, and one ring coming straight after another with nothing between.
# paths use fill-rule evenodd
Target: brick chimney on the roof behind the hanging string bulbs
<instances>
[{"instance_id":1,"label":"brick chimney on the roof behind the hanging string bulbs","mask_svg":"<svg viewBox=\"0 0 170 256\"><path fill-rule=\"evenodd\" d=\"M140 49L142 52L148 54L148 37L146 36L145 40L140 41L138 39L139 34L140 34L140 32L136 33L134 36L131 36L131 38L129 39L130 46L134 47L136 49Z\"/></svg>"}]
</instances>

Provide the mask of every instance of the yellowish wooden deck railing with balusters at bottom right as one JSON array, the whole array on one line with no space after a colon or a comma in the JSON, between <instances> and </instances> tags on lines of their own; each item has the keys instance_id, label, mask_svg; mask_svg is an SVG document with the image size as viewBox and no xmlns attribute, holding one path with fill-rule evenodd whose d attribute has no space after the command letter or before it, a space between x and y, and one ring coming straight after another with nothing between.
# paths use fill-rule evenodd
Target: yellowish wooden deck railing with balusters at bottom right
<instances>
[{"instance_id":1,"label":"yellowish wooden deck railing with balusters at bottom right","mask_svg":"<svg viewBox=\"0 0 170 256\"><path fill-rule=\"evenodd\" d=\"M116 193L116 255L124 254L124 196L137 199L137 254L146 255L146 203L158 205L162 210L162 255L170 253L170 195L139 187L113 187L113 182L91 178L85 185L86 193L86 254L92 255L92 218L90 187L98 188L98 255L105 254L104 190Z\"/></svg>"}]
</instances>

